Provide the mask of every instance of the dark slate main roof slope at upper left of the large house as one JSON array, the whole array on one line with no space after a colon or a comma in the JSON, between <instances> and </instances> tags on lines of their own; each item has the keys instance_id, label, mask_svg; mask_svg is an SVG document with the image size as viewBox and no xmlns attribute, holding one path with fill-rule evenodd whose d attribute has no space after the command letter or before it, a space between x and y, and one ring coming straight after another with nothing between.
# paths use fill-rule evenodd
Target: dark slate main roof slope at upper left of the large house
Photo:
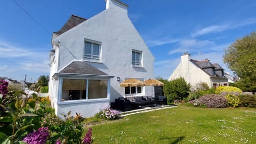
<instances>
[{"instance_id":1,"label":"dark slate main roof slope at upper left of the large house","mask_svg":"<svg viewBox=\"0 0 256 144\"><path fill-rule=\"evenodd\" d=\"M78 17L77 15L72 14L70 16L70 18L68 19L68 21L65 23L65 25L59 31L56 31L54 33L61 35L61 34L65 33L66 31L68 31L69 29L84 22L85 20L86 20L85 18Z\"/></svg>"}]
</instances>

